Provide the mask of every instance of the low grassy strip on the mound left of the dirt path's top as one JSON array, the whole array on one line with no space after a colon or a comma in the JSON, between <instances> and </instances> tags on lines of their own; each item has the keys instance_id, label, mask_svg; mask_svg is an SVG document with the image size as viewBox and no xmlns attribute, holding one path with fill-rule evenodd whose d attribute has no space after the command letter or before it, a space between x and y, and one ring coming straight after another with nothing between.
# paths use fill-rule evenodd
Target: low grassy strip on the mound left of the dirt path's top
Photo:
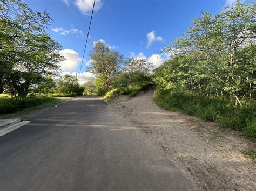
<instances>
[{"instance_id":1,"label":"low grassy strip on the mound left of the dirt path's top","mask_svg":"<svg viewBox=\"0 0 256 191\"><path fill-rule=\"evenodd\" d=\"M120 95L129 95L130 97L136 96L140 91L149 87L150 82L140 82L138 84L129 85L125 88L114 88L106 93L104 96L106 101L111 101L113 98Z\"/></svg>"}]
</instances>

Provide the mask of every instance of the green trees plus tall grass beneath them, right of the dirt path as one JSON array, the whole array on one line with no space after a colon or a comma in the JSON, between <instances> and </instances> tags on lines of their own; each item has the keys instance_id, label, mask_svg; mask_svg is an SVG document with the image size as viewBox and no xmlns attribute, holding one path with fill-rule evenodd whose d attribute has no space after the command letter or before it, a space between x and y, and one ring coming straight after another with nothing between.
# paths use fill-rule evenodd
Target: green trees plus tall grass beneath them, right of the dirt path
<instances>
[{"instance_id":1,"label":"green trees plus tall grass beneath them, right of the dirt path","mask_svg":"<svg viewBox=\"0 0 256 191\"><path fill-rule=\"evenodd\" d=\"M155 101L256 138L256 4L202 13L163 53Z\"/></svg>"}]
</instances>

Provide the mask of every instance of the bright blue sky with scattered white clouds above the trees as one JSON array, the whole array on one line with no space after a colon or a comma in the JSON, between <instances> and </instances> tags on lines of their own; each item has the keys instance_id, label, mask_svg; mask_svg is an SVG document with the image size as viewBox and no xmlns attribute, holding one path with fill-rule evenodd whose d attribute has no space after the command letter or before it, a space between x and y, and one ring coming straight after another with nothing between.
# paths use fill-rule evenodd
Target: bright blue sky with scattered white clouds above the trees
<instances>
[{"instance_id":1,"label":"bright blue sky with scattered white clouds above the trees","mask_svg":"<svg viewBox=\"0 0 256 191\"><path fill-rule=\"evenodd\" d=\"M54 22L48 27L52 39L58 41L66 57L65 73L79 72L93 0L24 0L33 10L46 10ZM80 82L92 74L89 52L93 41L104 40L111 49L146 58L159 66L159 51L183 32L201 12L218 13L235 0L96 0L90 38Z\"/></svg>"}]
</instances>

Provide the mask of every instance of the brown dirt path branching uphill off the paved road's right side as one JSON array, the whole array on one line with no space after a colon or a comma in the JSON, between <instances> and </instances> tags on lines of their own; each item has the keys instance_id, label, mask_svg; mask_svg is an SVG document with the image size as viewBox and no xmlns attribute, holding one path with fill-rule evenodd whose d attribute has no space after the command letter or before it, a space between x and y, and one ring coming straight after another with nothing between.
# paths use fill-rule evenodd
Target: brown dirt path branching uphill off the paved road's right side
<instances>
[{"instance_id":1,"label":"brown dirt path branching uphill off the paved road's right side","mask_svg":"<svg viewBox=\"0 0 256 191\"><path fill-rule=\"evenodd\" d=\"M120 96L109 107L140 128L199 187L256 190L256 163L241 153L255 144L240 132L166 111L153 102L153 90L132 99Z\"/></svg>"}]
</instances>

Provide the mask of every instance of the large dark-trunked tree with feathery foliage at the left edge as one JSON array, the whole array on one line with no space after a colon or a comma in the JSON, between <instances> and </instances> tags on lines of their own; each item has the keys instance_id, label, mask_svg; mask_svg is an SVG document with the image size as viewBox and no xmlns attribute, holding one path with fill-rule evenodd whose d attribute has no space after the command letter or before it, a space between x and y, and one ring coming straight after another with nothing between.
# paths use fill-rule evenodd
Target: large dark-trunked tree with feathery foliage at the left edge
<instances>
[{"instance_id":1,"label":"large dark-trunked tree with feathery foliage at the left edge","mask_svg":"<svg viewBox=\"0 0 256 191\"><path fill-rule=\"evenodd\" d=\"M47 74L59 69L60 45L45 31L51 18L19 0L0 2L0 93L26 98Z\"/></svg>"}]
</instances>

